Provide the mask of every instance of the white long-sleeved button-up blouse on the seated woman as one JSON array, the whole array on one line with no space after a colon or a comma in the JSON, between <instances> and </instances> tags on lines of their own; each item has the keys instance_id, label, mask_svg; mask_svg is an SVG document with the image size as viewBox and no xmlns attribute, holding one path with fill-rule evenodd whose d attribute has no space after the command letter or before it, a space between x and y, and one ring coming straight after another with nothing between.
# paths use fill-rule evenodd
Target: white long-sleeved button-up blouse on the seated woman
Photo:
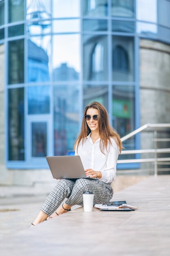
<instances>
[{"instance_id":1,"label":"white long-sleeved button-up blouse on the seated woman","mask_svg":"<svg viewBox=\"0 0 170 256\"><path fill-rule=\"evenodd\" d=\"M76 147L75 155L79 155L84 169L93 169L94 171L101 171L102 178L99 180L109 183L116 177L116 164L119 156L119 146L113 138L111 139L112 145L108 146L107 151L104 150L104 155L100 150L100 138L93 143L91 139L91 133L84 140L80 141L78 150Z\"/></svg>"}]
</instances>

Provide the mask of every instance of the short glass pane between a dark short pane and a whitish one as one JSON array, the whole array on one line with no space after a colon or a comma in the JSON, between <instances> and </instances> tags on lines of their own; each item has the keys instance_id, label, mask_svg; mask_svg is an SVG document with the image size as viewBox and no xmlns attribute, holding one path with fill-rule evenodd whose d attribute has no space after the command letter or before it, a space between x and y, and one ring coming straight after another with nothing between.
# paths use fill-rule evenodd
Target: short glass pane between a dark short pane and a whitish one
<instances>
[{"instance_id":1,"label":"short glass pane between a dark short pane and a whitish one","mask_svg":"<svg viewBox=\"0 0 170 256\"><path fill-rule=\"evenodd\" d=\"M30 35L41 35L51 33L51 20L33 20L26 24L26 33Z\"/></svg>"}]
</instances>

